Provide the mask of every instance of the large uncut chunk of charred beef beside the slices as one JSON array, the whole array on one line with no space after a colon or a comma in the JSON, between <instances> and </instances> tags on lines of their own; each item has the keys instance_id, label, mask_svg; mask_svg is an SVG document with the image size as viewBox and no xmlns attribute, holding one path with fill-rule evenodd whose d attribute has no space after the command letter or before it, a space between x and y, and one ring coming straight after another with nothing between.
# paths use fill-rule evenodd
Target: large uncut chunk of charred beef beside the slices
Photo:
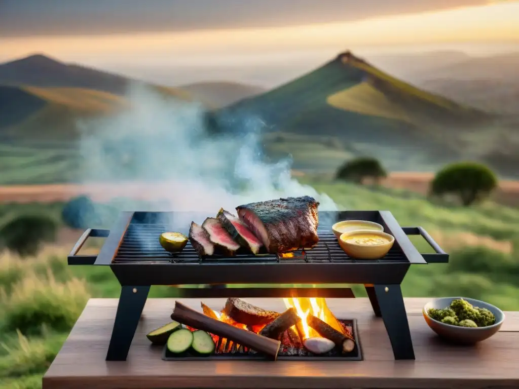
<instances>
[{"instance_id":1,"label":"large uncut chunk of charred beef beside the slices","mask_svg":"<svg viewBox=\"0 0 519 389\"><path fill-rule=\"evenodd\" d=\"M309 196L268 200L236 207L238 216L271 254L309 248L319 242L319 202Z\"/></svg>"}]
</instances>

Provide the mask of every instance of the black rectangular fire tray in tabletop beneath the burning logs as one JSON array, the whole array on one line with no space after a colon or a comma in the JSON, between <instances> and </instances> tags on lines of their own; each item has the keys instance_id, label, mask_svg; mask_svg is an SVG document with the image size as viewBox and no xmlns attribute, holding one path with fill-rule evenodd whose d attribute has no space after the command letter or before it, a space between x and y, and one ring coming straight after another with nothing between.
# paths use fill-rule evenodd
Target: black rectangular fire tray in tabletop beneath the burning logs
<instances>
[{"instance_id":1,"label":"black rectangular fire tray in tabletop beneath the burning logs","mask_svg":"<svg viewBox=\"0 0 519 389\"><path fill-rule=\"evenodd\" d=\"M355 319L346 320L339 319L353 336L355 340L355 348L350 353L341 353L337 349L333 349L332 351L325 354L313 354L306 350L304 346L294 347L292 344L281 344L281 348L279 349L278 358L279 360L362 360L362 348L360 344L360 339L358 336L357 329L357 321ZM223 345L223 352L220 351ZM210 356L195 356L190 355L188 352L182 355L175 355L171 353L167 346L164 347L162 351L162 359L163 360L232 360L232 359L265 359L265 356L262 354L258 354L254 350L250 350L244 348L242 345L237 347L236 343L228 342L227 339L218 338L216 342L216 351L213 355Z\"/></svg>"}]
</instances>

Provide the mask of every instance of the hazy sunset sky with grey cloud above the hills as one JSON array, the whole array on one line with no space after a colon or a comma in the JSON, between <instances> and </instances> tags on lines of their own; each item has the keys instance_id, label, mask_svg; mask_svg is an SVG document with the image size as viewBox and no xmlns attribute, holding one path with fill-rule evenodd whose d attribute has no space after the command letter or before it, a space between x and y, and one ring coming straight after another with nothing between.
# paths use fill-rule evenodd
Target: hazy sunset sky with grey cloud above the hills
<instances>
[{"instance_id":1,"label":"hazy sunset sky with grey cloud above the hills","mask_svg":"<svg viewBox=\"0 0 519 389\"><path fill-rule=\"evenodd\" d=\"M0 61L212 71L446 48L519 51L519 1L0 0Z\"/></svg>"}]
</instances>

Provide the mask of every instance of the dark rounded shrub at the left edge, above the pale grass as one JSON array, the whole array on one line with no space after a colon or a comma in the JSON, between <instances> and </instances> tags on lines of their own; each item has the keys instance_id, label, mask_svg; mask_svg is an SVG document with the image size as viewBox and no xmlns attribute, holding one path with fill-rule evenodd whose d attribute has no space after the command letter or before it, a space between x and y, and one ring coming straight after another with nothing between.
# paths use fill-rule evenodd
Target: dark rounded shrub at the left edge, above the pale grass
<instances>
[{"instance_id":1,"label":"dark rounded shrub at the left edge, above the pale grass","mask_svg":"<svg viewBox=\"0 0 519 389\"><path fill-rule=\"evenodd\" d=\"M0 249L25 257L35 255L43 242L56 240L58 223L47 215L7 216L0 226Z\"/></svg>"}]
</instances>

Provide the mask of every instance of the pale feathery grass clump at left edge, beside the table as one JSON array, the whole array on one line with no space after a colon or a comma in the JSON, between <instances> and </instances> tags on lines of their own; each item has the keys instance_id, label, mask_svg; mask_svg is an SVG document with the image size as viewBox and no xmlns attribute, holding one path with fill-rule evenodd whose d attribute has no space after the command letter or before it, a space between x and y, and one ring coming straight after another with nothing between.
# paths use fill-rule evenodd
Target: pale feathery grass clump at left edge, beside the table
<instances>
[{"instance_id":1,"label":"pale feathery grass clump at left edge, beside the table","mask_svg":"<svg viewBox=\"0 0 519 389\"><path fill-rule=\"evenodd\" d=\"M20 329L23 334L37 334L42 326L70 331L88 298L84 280L73 278L60 283L50 271L47 277L32 273L14 285L9 296L3 293L3 325L6 330Z\"/></svg>"}]
</instances>

